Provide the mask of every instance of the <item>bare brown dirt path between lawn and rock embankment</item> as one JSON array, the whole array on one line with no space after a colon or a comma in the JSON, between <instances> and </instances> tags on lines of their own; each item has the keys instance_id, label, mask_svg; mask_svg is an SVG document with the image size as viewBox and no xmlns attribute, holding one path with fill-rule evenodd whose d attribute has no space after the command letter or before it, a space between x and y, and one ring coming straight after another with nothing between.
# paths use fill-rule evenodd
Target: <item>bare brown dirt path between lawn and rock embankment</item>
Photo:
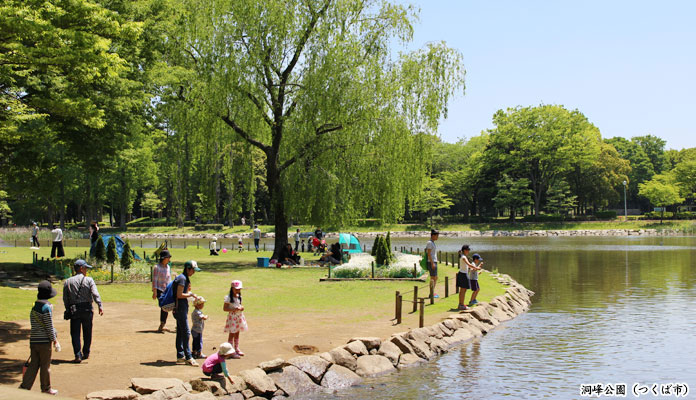
<instances>
[{"instance_id":1,"label":"bare brown dirt path between lawn and rock embankment","mask_svg":"<svg viewBox=\"0 0 696 400\"><path fill-rule=\"evenodd\" d=\"M63 347L53 353L51 381L62 396L84 399L87 393L103 389L123 389L132 377L176 377L182 380L203 376L200 368L175 365L175 321L171 317L167 328L160 334L159 310L152 303L105 303L104 316L95 314L92 352L89 360L81 364L73 359L69 323L62 319L63 306L54 301L58 337ZM391 333L417 326L416 315L406 315L401 325L394 326L391 307L374 310L366 320L365 310L353 314L334 315L330 312L296 315L279 313L276 318L259 319L247 315L250 330L243 332L240 347L246 356L228 363L231 373L253 368L262 361L274 358L289 359L296 355L294 345L316 346L320 352L345 344L355 336L388 337ZM442 316L444 317L444 315ZM426 318L435 323L437 317ZM206 324L204 353L211 354L213 347L227 340L222 332L222 321ZM29 353L29 322L0 322L0 384L18 386L22 362ZM39 381L33 391L39 391Z\"/></svg>"}]
</instances>

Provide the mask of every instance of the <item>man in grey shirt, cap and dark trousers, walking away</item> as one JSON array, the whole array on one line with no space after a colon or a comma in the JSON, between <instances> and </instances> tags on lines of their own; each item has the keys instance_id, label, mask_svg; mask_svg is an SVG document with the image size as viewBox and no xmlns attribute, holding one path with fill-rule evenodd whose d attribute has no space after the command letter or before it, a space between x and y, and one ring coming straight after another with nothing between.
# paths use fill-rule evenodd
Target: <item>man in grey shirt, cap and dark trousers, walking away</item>
<instances>
[{"instance_id":1,"label":"man in grey shirt, cap and dark trousers, walking away","mask_svg":"<svg viewBox=\"0 0 696 400\"><path fill-rule=\"evenodd\" d=\"M92 302L97 303L99 315L104 315L101 297L94 279L87 276L87 270L92 266L85 260L75 261L75 276L65 280L63 284L63 304L70 312L70 337L72 338L73 362L81 363L89 358L92 347L92 320L94 311ZM80 333L84 343L80 343Z\"/></svg>"}]
</instances>

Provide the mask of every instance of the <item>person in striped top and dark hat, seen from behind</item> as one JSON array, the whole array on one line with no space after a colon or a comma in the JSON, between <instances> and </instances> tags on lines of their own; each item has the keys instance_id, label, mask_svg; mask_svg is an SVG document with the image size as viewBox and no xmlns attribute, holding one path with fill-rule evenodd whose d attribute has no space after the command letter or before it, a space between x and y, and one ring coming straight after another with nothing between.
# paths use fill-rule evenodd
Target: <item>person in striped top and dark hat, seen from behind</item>
<instances>
[{"instance_id":1,"label":"person in striped top and dark hat, seen from behind","mask_svg":"<svg viewBox=\"0 0 696 400\"><path fill-rule=\"evenodd\" d=\"M53 305L48 299L56 296L56 289L51 286L51 282L43 281L39 283L39 293L36 295L36 302L29 314L31 321L31 336L29 337L29 348L31 349L31 361L24 373L21 389L31 390L36 379L36 373L41 370L39 379L41 380L41 391L55 395L57 390L51 389L51 344L56 346L56 351L60 350L57 332L53 328Z\"/></svg>"}]
</instances>

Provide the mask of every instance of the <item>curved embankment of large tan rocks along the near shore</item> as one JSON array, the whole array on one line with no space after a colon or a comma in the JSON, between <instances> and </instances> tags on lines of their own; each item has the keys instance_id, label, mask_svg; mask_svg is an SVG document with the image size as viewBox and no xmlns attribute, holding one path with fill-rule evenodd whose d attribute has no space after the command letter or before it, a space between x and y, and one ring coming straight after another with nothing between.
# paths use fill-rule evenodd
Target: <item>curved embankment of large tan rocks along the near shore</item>
<instances>
[{"instance_id":1,"label":"curved embankment of large tan rocks along the near shore","mask_svg":"<svg viewBox=\"0 0 696 400\"><path fill-rule=\"evenodd\" d=\"M427 362L529 309L532 291L508 275L494 277L508 286L504 295L470 311L452 314L432 326L396 333L387 339L356 337L325 353L263 362L233 376L234 385L224 379L183 382L176 378L133 378L128 389L93 392L87 399L279 400L301 393L348 388L366 377Z\"/></svg>"}]
</instances>

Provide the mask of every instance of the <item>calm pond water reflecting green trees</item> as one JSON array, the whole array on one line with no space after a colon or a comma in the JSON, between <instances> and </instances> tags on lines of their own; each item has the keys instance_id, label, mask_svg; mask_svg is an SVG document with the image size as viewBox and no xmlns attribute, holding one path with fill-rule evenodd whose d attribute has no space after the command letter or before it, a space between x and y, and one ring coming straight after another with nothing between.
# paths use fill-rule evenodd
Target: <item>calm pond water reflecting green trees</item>
<instances>
[{"instance_id":1,"label":"calm pond water reflecting green trees","mask_svg":"<svg viewBox=\"0 0 696 400\"><path fill-rule=\"evenodd\" d=\"M393 240L398 246L423 247ZM696 396L696 237L441 239L536 292L528 313L424 366L303 399L583 398L583 384ZM485 291L485 288L482 288ZM659 389L658 389L659 390ZM645 394L640 397L656 397ZM585 397L586 398L586 397Z\"/></svg>"}]
</instances>

